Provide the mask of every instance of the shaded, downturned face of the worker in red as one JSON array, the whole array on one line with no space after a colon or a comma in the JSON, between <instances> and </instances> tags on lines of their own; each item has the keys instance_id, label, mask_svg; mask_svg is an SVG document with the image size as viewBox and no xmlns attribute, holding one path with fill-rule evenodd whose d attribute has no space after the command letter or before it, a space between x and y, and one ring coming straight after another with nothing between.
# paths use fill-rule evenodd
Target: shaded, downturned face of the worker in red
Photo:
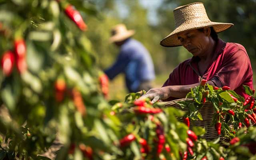
<instances>
[{"instance_id":1,"label":"shaded, downturned face of the worker in red","mask_svg":"<svg viewBox=\"0 0 256 160\"><path fill-rule=\"evenodd\" d=\"M177 36L182 46L192 53L193 56L207 54L210 44L210 28L204 28L203 31L198 29L188 30L177 34Z\"/></svg>"}]
</instances>

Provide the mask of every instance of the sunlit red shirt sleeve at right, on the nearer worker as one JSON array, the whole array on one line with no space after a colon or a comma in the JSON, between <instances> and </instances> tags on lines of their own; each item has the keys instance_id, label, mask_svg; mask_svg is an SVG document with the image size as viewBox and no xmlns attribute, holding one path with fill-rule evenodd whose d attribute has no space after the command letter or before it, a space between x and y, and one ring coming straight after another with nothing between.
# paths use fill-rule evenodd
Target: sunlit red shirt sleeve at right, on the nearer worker
<instances>
[{"instance_id":1,"label":"sunlit red shirt sleeve at right, on the nearer worker","mask_svg":"<svg viewBox=\"0 0 256 160\"><path fill-rule=\"evenodd\" d=\"M229 86L232 90L242 85L250 72L250 59L242 49L230 52L224 56L222 68L212 78L219 87ZM220 86L221 85L221 86Z\"/></svg>"}]
</instances>

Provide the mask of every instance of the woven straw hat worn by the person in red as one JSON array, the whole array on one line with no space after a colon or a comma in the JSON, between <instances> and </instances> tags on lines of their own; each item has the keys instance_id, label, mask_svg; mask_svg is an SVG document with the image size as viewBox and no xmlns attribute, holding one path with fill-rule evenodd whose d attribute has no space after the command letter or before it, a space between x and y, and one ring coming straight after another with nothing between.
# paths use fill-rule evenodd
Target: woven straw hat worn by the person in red
<instances>
[{"instance_id":1,"label":"woven straw hat worn by the person in red","mask_svg":"<svg viewBox=\"0 0 256 160\"><path fill-rule=\"evenodd\" d=\"M187 4L174 9L175 29L167 37L161 40L160 44L165 47L181 46L177 34L196 28L213 27L215 32L222 32L231 26L232 23L212 22L206 14L204 4L200 2Z\"/></svg>"}]
</instances>

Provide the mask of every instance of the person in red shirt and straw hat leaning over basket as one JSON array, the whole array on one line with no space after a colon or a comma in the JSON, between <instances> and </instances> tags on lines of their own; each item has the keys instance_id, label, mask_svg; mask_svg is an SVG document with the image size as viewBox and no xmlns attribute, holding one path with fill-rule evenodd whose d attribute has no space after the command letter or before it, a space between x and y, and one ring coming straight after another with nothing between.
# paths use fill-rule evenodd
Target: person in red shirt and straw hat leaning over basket
<instances>
[{"instance_id":1,"label":"person in red shirt and straw hat leaning over basket","mask_svg":"<svg viewBox=\"0 0 256 160\"><path fill-rule=\"evenodd\" d=\"M243 85L253 89L252 67L246 49L241 44L218 38L234 24L212 22L203 3L192 3L174 9L175 30L160 44L165 47L183 46L192 58L180 63L161 88L150 89L143 98L174 100L185 98L202 79L217 87L229 86L247 98Z\"/></svg>"}]
</instances>

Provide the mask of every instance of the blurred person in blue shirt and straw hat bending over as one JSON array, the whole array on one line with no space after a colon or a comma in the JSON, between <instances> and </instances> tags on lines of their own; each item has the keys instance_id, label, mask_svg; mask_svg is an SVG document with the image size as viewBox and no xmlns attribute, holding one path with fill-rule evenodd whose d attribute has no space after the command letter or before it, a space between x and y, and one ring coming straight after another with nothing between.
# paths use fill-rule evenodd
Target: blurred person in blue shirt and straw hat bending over
<instances>
[{"instance_id":1,"label":"blurred person in blue shirt and straw hat bending over","mask_svg":"<svg viewBox=\"0 0 256 160\"><path fill-rule=\"evenodd\" d=\"M116 62L104 72L110 80L124 73L129 92L148 91L155 78L154 64L148 50L130 38L132 35L134 30L127 30L124 24L114 26L110 42L116 44L120 52Z\"/></svg>"}]
</instances>

